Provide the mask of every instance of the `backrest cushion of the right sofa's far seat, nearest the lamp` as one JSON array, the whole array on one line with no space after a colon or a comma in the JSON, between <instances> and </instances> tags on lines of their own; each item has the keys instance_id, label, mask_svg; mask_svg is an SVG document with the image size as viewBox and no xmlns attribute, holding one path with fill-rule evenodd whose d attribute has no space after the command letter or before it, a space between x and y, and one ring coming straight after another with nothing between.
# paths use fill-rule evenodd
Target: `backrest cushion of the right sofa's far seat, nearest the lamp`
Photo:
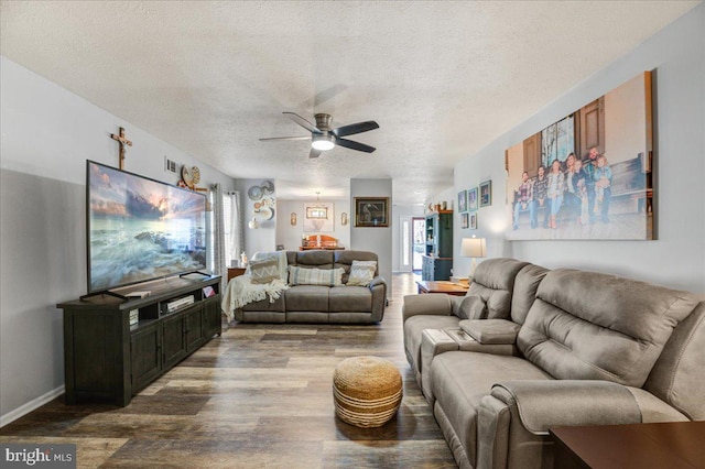
<instances>
[{"instance_id":1,"label":"backrest cushion of the right sofa's far seat, nearest the lamp","mask_svg":"<svg viewBox=\"0 0 705 469\"><path fill-rule=\"evenodd\" d=\"M487 304L487 318L507 319L511 312L514 277L528 262L514 259L488 259L475 269L467 296L479 296Z\"/></svg>"}]
</instances>

